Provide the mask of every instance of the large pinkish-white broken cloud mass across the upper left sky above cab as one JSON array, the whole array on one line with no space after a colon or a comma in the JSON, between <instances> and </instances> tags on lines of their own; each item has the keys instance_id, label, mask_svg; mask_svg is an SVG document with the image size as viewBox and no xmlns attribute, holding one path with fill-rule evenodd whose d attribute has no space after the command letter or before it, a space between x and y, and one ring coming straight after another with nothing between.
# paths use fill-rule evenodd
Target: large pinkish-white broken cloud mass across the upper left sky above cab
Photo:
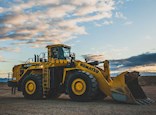
<instances>
[{"instance_id":1,"label":"large pinkish-white broken cloud mass across the upper left sky above cab","mask_svg":"<svg viewBox=\"0 0 156 115\"><path fill-rule=\"evenodd\" d=\"M0 40L16 40L17 44L35 46L63 43L88 34L82 23L111 18L114 1L0 1Z\"/></svg>"}]
</instances>

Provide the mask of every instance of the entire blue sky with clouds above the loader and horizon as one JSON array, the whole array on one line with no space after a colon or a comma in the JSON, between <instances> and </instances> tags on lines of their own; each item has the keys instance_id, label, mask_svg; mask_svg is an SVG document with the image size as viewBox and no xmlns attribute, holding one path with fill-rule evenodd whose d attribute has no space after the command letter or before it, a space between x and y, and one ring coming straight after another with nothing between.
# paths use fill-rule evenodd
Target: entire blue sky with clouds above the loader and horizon
<instances>
[{"instance_id":1,"label":"entire blue sky with clouds above the loader and horizon","mask_svg":"<svg viewBox=\"0 0 156 115\"><path fill-rule=\"evenodd\" d=\"M0 77L49 44L156 75L156 0L0 0Z\"/></svg>"}]
</instances>

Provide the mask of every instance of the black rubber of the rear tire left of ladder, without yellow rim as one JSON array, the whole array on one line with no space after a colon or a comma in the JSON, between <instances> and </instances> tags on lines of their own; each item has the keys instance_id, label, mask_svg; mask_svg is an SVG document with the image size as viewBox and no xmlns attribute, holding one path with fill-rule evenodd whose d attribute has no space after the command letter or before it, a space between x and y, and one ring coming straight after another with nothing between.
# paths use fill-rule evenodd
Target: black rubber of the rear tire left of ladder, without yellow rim
<instances>
[{"instance_id":1,"label":"black rubber of the rear tire left of ladder, without yellow rim","mask_svg":"<svg viewBox=\"0 0 156 115\"><path fill-rule=\"evenodd\" d=\"M33 94L27 93L27 91L25 89L25 85L29 80L34 81L36 84L36 90ZM43 98L43 87L42 87L41 75L33 75L33 74L28 75L22 82L22 91L23 91L23 95L26 99L35 99L35 100L42 99Z\"/></svg>"}]
</instances>

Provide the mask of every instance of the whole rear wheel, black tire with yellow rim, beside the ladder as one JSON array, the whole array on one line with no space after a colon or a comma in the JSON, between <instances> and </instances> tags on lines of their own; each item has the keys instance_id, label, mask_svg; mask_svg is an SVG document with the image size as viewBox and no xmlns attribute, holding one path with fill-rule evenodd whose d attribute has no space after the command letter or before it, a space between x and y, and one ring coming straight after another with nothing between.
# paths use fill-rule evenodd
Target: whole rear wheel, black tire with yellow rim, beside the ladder
<instances>
[{"instance_id":1,"label":"whole rear wheel, black tire with yellow rim, beside the ladder","mask_svg":"<svg viewBox=\"0 0 156 115\"><path fill-rule=\"evenodd\" d=\"M41 75L30 74L22 82L23 95L27 99L42 99L42 77Z\"/></svg>"}]
</instances>

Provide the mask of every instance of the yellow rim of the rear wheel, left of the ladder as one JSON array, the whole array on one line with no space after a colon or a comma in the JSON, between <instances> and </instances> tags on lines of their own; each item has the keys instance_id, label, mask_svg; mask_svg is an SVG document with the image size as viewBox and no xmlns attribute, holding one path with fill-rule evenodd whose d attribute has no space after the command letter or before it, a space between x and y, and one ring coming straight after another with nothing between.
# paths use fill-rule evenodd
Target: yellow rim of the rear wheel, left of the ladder
<instances>
[{"instance_id":1,"label":"yellow rim of the rear wheel, left of the ladder","mask_svg":"<svg viewBox=\"0 0 156 115\"><path fill-rule=\"evenodd\" d=\"M28 94L32 95L36 91L36 83L33 80L27 81L25 90Z\"/></svg>"}]
</instances>

